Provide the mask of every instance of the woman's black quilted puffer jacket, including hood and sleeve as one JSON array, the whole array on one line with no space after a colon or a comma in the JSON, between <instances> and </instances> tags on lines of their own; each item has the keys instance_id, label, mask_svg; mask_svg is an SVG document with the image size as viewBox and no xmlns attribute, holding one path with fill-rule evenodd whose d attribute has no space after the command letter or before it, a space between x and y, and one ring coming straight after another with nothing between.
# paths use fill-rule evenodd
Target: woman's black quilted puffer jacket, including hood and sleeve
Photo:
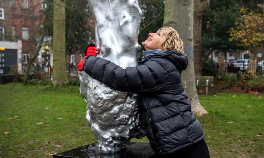
<instances>
[{"instance_id":1,"label":"woman's black quilted puffer jacket, including hood and sleeve","mask_svg":"<svg viewBox=\"0 0 264 158\"><path fill-rule=\"evenodd\" d=\"M126 69L92 56L85 59L83 70L114 90L139 93L139 110L150 145L155 152L166 154L204 138L181 81L187 65L187 56L168 51Z\"/></svg>"}]
</instances>

